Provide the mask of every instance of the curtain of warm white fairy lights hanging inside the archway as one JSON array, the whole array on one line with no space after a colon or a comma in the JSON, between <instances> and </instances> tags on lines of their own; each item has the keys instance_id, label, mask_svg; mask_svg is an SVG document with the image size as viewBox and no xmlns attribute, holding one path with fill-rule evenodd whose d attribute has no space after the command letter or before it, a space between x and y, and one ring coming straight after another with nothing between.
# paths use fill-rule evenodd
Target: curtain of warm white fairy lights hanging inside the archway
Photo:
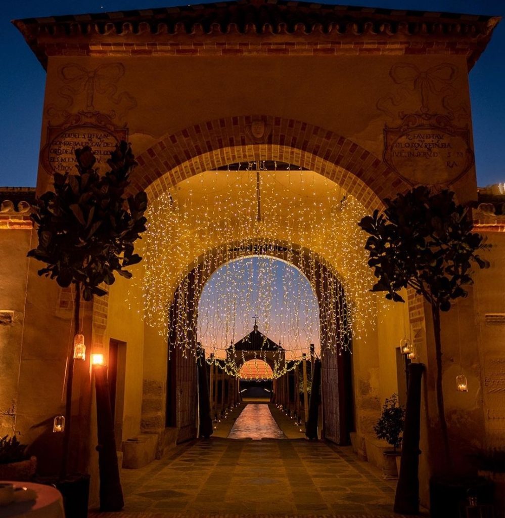
<instances>
[{"instance_id":1,"label":"curtain of warm white fairy lights hanging inside the archway","mask_svg":"<svg viewBox=\"0 0 505 518\"><path fill-rule=\"evenodd\" d=\"M364 249L366 235L357 225L366 210L340 186L314 171L261 170L258 219L256 169L251 164L245 171L206 171L152 200L143 250L146 320L167 336L170 303L177 291L176 316L172 319L177 344L192 354L197 329L207 337L224 336L224 343L214 342L212 346L215 361L222 361L230 342L242 338L235 334L239 322L233 300L257 290L251 271L239 267L240 262L235 260L250 255L274 256L295 264L318 293L324 322L319 337L321 352L341 351L351 336L363 335L376 319L377 297L369 292L373 278ZM320 270L320 262L324 270ZM282 317L285 310L278 302L277 307L271 307L273 290L278 288L274 264L273 260L261 262L261 301L255 307L262 333L272 340L280 338L282 342L280 335L287 329L298 330L298 342L295 340L286 354L287 361L297 361L306 352L307 342L318 337L313 329L304 329L307 324L303 313L307 308L301 304L296 276L289 268L281 285L293 301L293 311L288 320L283 322L281 318L276 329L270 328L271 315ZM187 276L197 265L196 278L191 282ZM221 265L226 265L229 274L224 277L229 296L221 301L219 315L198 327L200 295L205 282ZM239 285L247 293L237 292ZM346 328L339 327L339 322L344 322ZM270 332L279 336L270 336ZM307 335L312 336L306 340ZM234 372L236 367L230 366Z\"/></svg>"}]
</instances>

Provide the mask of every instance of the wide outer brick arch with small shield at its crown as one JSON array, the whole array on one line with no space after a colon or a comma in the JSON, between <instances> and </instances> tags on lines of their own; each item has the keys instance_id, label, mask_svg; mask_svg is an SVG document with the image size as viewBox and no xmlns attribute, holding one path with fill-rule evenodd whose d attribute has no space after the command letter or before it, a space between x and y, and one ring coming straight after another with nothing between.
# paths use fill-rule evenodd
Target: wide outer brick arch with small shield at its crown
<instances>
[{"instance_id":1,"label":"wide outer brick arch with small shield at its crown","mask_svg":"<svg viewBox=\"0 0 505 518\"><path fill-rule=\"evenodd\" d=\"M255 139L250 125L264 123ZM272 116L237 116L165 135L137 157L132 187L157 197L176 183L234 162L278 160L314 170L343 186L366 208L410 185L377 156L319 126Z\"/></svg>"}]
</instances>

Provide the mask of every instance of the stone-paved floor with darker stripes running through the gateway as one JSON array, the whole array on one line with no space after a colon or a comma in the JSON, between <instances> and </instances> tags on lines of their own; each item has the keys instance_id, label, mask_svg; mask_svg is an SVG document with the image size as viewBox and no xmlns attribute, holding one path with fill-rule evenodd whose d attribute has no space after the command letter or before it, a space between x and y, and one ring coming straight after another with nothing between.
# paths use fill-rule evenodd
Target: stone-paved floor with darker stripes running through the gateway
<instances>
[{"instance_id":1,"label":"stone-paved floor with darker stripes running through the gateway","mask_svg":"<svg viewBox=\"0 0 505 518\"><path fill-rule=\"evenodd\" d=\"M270 408L281 429L292 426ZM225 428L228 434L232 425ZM90 516L399 516L392 512L395 481L383 480L350 447L323 441L191 441L144 468L123 470L122 483L124 511Z\"/></svg>"}]
</instances>

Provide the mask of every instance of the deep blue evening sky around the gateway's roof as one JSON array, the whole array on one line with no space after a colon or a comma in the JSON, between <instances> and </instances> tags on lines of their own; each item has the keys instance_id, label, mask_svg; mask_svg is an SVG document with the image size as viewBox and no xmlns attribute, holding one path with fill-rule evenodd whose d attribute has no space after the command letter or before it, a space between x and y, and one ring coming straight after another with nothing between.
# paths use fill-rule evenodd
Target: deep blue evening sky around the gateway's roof
<instances>
[{"instance_id":1,"label":"deep blue evening sky around the gateway's roof","mask_svg":"<svg viewBox=\"0 0 505 518\"><path fill-rule=\"evenodd\" d=\"M45 79L42 66L10 20L180 4L174 0L3 0L0 113L4 122L0 124L0 185L35 185ZM347 0L340 4L505 15L505 0ZM478 183L483 186L504 182L505 21L498 25L491 43L471 70L470 92Z\"/></svg>"}]
</instances>

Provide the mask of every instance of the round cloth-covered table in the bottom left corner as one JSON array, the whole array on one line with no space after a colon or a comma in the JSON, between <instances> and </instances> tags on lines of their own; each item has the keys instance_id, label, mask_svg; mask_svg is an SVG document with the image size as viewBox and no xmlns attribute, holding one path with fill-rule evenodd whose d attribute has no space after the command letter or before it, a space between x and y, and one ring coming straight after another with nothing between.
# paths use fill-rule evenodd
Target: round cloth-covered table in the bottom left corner
<instances>
[{"instance_id":1,"label":"round cloth-covered table in the bottom left corner","mask_svg":"<svg viewBox=\"0 0 505 518\"><path fill-rule=\"evenodd\" d=\"M54 487L33 482L0 482L14 484L14 487L27 487L37 493L36 500L12 502L0 507L0 518L65 518L62 495Z\"/></svg>"}]
</instances>

